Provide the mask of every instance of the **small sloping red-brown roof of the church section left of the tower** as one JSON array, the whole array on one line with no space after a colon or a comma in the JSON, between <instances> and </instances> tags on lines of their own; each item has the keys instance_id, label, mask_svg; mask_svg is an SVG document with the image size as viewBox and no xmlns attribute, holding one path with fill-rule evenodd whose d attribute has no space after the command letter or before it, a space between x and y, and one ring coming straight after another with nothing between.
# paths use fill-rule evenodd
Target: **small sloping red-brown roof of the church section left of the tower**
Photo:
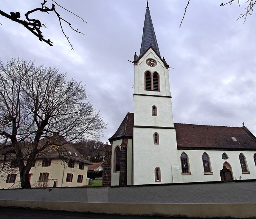
<instances>
[{"instance_id":1,"label":"small sloping red-brown roof of the church section left of the tower","mask_svg":"<svg viewBox=\"0 0 256 219\"><path fill-rule=\"evenodd\" d=\"M122 139L123 137L133 137L133 125L134 125L134 113L127 113L124 117L124 120L116 130L116 133L110 139L108 139L110 142Z\"/></svg>"}]
</instances>

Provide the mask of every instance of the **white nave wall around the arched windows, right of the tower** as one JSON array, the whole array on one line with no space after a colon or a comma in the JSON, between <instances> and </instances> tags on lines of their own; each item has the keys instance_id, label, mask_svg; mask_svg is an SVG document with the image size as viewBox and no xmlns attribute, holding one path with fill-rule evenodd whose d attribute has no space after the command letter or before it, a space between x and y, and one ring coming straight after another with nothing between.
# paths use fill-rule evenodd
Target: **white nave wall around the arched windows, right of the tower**
<instances>
[{"instance_id":1,"label":"white nave wall around the arched windows, right of the tower","mask_svg":"<svg viewBox=\"0 0 256 219\"><path fill-rule=\"evenodd\" d=\"M239 179L240 177L242 179L256 179L256 166L253 159L255 151L178 150L178 159L180 159L183 152L188 155L191 172L191 175L182 175L183 182L220 181L220 170L225 161L230 164L234 179ZM203 153L207 153L209 156L213 174L204 174ZM222 159L223 153L228 155L228 159ZM240 153L246 158L247 168L250 173L242 173L239 160ZM179 162L181 167L181 161Z\"/></svg>"}]
</instances>

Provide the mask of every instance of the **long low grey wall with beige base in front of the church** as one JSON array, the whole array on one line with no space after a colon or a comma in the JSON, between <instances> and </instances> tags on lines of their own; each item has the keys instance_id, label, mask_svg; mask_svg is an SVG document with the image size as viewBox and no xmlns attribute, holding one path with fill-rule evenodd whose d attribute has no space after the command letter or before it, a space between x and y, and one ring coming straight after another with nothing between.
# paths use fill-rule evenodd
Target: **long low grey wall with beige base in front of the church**
<instances>
[{"instance_id":1,"label":"long low grey wall with beige base in front of the church","mask_svg":"<svg viewBox=\"0 0 256 219\"><path fill-rule=\"evenodd\" d=\"M0 206L126 215L256 217L256 180L0 190Z\"/></svg>"}]
</instances>

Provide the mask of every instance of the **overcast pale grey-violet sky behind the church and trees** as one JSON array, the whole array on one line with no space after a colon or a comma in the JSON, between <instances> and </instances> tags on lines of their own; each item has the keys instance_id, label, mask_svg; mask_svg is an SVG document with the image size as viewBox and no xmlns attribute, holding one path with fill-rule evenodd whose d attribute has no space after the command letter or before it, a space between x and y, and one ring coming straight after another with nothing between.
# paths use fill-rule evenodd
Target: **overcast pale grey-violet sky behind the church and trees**
<instances>
[{"instance_id":1,"label":"overcast pale grey-violet sky behind the church and trees","mask_svg":"<svg viewBox=\"0 0 256 219\"><path fill-rule=\"evenodd\" d=\"M236 20L246 5L220 7L223 0L192 0L179 28L186 0L149 0L161 56L170 67L174 122L246 127L256 135L256 14ZM0 9L21 12L40 7L40 0L2 0ZM86 84L89 101L100 111L108 141L127 112L133 112L134 52L140 51L146 0L57 0L81 20L56 6L77 34L58 20L38 13L46 39L40 42L20 24L0 16L0 60L34 60L56 66ZM71 3L72 2L72 3ZM48 4L52 4L48 0ZM50 7L50 5L49 5ZM22 16L24 18L24 16Z\"/></svg>"}]
</instances>

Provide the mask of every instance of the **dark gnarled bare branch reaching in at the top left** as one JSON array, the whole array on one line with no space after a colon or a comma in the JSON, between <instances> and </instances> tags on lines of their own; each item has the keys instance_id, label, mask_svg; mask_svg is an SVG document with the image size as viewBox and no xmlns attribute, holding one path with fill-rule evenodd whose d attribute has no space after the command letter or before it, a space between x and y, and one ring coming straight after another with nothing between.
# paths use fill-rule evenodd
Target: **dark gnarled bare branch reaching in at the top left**
<instances>
[{"instance_id":1,"label":"dark gnarled bare branch reaching in at the top left","mask_svg":"<svg viewBox=\"0 0 256 219\"><path fill-rule=\"evenodd\" d=\"M31 18L32 15L36 14L35 12L44 12L44 14L50 14L50 13L54 13L57 17L57 19L59 20L60 23L60 28L62 30L62 33L64 34L64 36L66 37L66 39L68 40L69 45L71 46L71 49L73 50L73 46L70 43L69 37L66 35L66 33L64 32L63 26L62 26L62 22L68 24L68 26L74 30L75 32L79 33L79 34L83 34L82 32L79 32L78 29L74 29L72 27L72 25L70 24L70 22L68 22L67 20L63 19L60 14L56 11L56 5L59 6L60 8L70 12L69 10L67 10L66 8L60 6L60 4L58 4L56 1L51 0L52 2L54 2L55 4L51 4L50 7L47 6L47 0L42 0L43 2L41 3L41 7L40 8L33 8L32 10L28 10L26 12L26 14L24 14L25 20L20 19L20 12L10 12L9 14L6 12L3 12L2 10L0 10L0 14L14 22L17 22L19 24L22 24L25 28L27 28L32 34L34 34L35 36L38 37L38 39L40 41L46 42L47 44L49 44L50 46L53 46L53 42L50 41L50 39L46 40L42 34L41 31L41 27L46 27L46 24L43 24L41 22L41 20L35 19L35 18ZM74 16L80 18L84 23L86 23L85 20L83 20L80 16L77 16L76 14L72 13Z\"/></svg>"}]
</instances>

